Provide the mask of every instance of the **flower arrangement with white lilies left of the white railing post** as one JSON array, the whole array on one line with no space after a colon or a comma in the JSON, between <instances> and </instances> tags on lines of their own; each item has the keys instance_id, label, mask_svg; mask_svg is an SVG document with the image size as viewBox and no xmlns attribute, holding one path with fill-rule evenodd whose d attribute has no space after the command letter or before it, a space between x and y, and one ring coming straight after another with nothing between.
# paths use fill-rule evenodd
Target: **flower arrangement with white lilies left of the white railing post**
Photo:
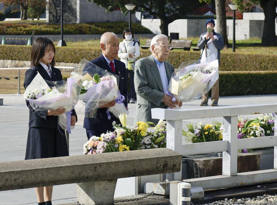
<instances>
[{"instance_id":1,"label":"flower arrangement with white lilies left of the white railing post","mask_svg":"<svg viewBox=\"0 0 277 205\"><path fill-rule=\"evenodd\" d=\"M137 122L136 126L126 124L127 114L119 116L121 126L113 123L114 132L92 136L84 144L84 154L121 152L166 147L166 122L160 120L155 126L151 122Z\"/></svg>"}]
</instances>

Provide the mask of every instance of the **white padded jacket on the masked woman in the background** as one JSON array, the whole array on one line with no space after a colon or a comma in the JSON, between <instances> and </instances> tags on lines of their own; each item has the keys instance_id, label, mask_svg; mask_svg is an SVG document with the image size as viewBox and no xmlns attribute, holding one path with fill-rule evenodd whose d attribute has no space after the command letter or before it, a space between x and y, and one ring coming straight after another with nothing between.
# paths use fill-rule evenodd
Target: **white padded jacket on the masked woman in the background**
<instances>
[{"instance_id":1,"label":"white padded jacket on the masked woman in the background","mask_svg":"<svg viewBox=\"0 0 277 205\"><path fill-rule=\"evenodd\" d=\"M139 45L136 43L134 46L134 43L133 39L130 41L123 39L123 41L119 44L118 57L120 58L120 61L125 63L126 68L128 68L128 60L136 60L136 58L140 55ZM134 58L129 58L129 53L135 54Z\"/></svg>"}]
</instances>

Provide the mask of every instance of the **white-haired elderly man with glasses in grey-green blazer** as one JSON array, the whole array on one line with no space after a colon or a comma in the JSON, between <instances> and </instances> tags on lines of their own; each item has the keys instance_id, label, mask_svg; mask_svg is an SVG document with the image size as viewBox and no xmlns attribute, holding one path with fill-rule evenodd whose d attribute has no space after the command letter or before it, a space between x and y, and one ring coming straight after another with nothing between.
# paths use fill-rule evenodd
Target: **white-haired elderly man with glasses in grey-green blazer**
<instances>
[{"instance_id":1,"label":"white-haired elderly man with glasses in grey-green blazer","mask_svg":"<svg viewBox=\"0 0 277 205\"><path fill-rule=\"evenodd\" d=\"M151 108L175 108L182 106L182 102L173 101L171 96L166 95L168 83L174 72L174 67L165 61L170 53L167 36L160 34L154 36L150 44L152 54L141 58L135 65L134 84L137 95L135 121L153 122Z\"/></svg>"}]
</instances>

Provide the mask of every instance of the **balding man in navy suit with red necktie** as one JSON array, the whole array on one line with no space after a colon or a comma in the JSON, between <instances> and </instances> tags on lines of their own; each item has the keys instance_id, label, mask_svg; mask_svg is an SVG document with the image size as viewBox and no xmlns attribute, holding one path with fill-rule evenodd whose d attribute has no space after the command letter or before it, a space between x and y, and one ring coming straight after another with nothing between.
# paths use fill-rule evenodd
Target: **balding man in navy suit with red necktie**
<instances>
[{"instance_id":1,"label":"balding man in navy suit with red necktie","mask_svg":"<svg viewBox=\"0 0 277 205\"><path fill-rule=\"evenodd\" d=\"M125 107L128 106L127 102L127 92L128 92L128 73L125 68L125 64L120 60L115 59L119 51L119 39L116 34L112 32L106 32L101 36L100 47L102 49L102 54L90 62L103 68L104 70L109 71L117 76L119 76L119 91L121 95L125 97ZM89 68L84 68L84 71L89 71ZM116 121L117 124L120 124L118 118L116 118L112 113L111 118L108 119L107 109L115 105L115 100L112 102L103 105L97 110L96 118L87 118L84 119L84 128L87 132L87 138L95 135L100 137L102 133L107 131L114 131L112 122Z\"/></svg>"}]
</instances>

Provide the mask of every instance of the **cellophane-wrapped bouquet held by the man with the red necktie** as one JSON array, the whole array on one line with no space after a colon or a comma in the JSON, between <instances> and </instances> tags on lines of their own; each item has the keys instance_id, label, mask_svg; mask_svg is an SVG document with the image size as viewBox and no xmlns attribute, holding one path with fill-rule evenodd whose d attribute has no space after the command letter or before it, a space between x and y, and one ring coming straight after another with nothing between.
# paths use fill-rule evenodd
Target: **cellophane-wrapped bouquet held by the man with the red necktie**
<instances>
[{"instance_id":1,"label":"cellophane-wrapped bouquet held by the man with the red necktie","mask_svg":"<svg viewBox=\"0 0 277 205\"><path fill-rule=\"evenodd\" d=\"M114 116L128 113L123 103L125 98L118 90L119 76L83 59L71 72L70 78L82 85L79 100L84 103L85 117L95 118L97 109L113 100L116 100L116 104L108 108L109 112L114 113Z\"/></svg>"}]
</instances>

